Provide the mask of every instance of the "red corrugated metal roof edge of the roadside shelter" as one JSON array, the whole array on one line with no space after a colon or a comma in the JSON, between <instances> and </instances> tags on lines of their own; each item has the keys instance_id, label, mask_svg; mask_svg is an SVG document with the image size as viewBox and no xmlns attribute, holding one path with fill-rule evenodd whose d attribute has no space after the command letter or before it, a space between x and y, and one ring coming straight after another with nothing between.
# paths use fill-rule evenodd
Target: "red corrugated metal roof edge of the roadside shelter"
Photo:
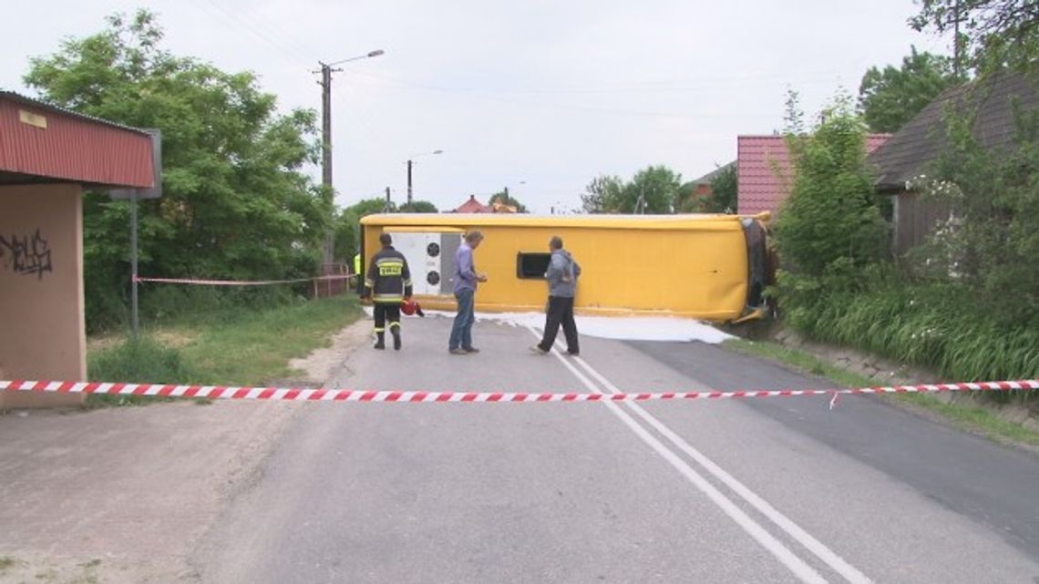
<instances>
[{"instance_id":1,"label":"red corrugated metal roof edge of the roadside shelter","mask_svg":"<svg viewBox=\"0 0 1039 584\"><path fill-rule=\"evenodd\" d=\"M0 172L150 188L152 137L143 130L0 92Z\"/></svg>"}]
</instances>

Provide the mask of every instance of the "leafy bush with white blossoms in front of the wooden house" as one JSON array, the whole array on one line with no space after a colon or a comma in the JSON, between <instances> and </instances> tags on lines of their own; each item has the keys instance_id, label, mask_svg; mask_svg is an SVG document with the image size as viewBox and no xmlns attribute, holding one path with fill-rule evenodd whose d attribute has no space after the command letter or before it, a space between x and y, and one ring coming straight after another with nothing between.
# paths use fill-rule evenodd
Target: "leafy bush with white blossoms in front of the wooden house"
<instances>
[{"instance_id":1,"label":"leafy bush with white blossoms in front of the wooden house","mask_svg":"<svg viewBox=\"0 0 1039 584\"><path fill-rule=\"evenodd\" d=\"M1030 81L1031 82L1031 81ZM931 177L914 183L949 205L945 221L915 250L917 270L969 289L1003 322L1039 319L1039 112L1011 108L1010 144L986 148L975 136L975 102L989 99L984 84L966 104L945 113L948 144ZM1039 350L1039 349L1037 349Z\"/></svg>"}]
</instances>

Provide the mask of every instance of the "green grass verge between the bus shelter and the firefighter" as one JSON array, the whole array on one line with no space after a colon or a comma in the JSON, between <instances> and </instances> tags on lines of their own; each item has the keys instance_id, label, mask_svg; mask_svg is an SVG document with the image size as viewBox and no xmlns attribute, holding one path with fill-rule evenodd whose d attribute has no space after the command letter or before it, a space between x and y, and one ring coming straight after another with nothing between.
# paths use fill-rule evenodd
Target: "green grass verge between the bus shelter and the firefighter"
<instances>
[{"instance_id":1,"label":"green grass verge between the bus shelter and the firefighter","mask_svg":"<svg viewBox=\"0 0 1039 584\"><path fill-rule=\"evenodd\" d=\"M221 309L149 327L91 349L87 377L97 381L255 386L292 375L289 361L327 346L356 320L355 297L343 295L279 307ZM140 398L90 396L91 405L129 405Z\"/></svg>"}]
</instances>

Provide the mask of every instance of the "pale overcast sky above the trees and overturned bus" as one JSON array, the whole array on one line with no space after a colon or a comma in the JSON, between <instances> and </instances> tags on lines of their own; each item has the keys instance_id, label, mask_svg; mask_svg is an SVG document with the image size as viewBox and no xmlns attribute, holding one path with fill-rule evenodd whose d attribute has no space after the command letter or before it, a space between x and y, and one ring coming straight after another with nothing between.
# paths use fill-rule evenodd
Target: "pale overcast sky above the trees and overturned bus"
<instances>
[{"instance_id":1,"label":"pale overcast sky above the trees and overturned bus","mask_svg":"<svg viewBox=\"0 0 1039 584\"><path fill-rule=\"evenodd\" d=\"M441 209L505 186L535 212L574 209L596 176L649 164L695 179L738 135L780 129L787 87L810 117L910 45L948 52L906 25L912 0L36 0L5 3L0 87L27 91L30 56L137 7L167 49L255 72L283 109L320 108L318 60L384 50L334 80L344 206L387 186L402 203L404 161L437 149L414 184Z\"/></svg>"}]
</instances>

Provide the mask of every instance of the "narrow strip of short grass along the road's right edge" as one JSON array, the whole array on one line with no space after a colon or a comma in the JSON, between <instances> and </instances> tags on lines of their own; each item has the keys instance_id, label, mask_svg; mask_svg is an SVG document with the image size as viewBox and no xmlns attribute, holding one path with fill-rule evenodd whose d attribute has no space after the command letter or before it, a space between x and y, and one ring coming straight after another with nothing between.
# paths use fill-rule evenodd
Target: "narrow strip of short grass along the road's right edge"
<instances>
[{"instance_id":1,"label":"narrow strip of short grass along the road's right edge","mask_svg":"<svg viewBox=\"0 0 1039 584\"><path fill-rule=\"evenodd\" d=\"M826 377L846 388L869 388L877 384L875 379L846 371L812 354L775 343L730 339L725 341L725 346L745 354L785 364L799 371ZM981 433L996 441L1039 446L1039 432L1003 420L985 407L965 403L947 403L926 394L898 394L883 397L932 415L936 414L962 429Z\"/></svg>"}]
</instances>

